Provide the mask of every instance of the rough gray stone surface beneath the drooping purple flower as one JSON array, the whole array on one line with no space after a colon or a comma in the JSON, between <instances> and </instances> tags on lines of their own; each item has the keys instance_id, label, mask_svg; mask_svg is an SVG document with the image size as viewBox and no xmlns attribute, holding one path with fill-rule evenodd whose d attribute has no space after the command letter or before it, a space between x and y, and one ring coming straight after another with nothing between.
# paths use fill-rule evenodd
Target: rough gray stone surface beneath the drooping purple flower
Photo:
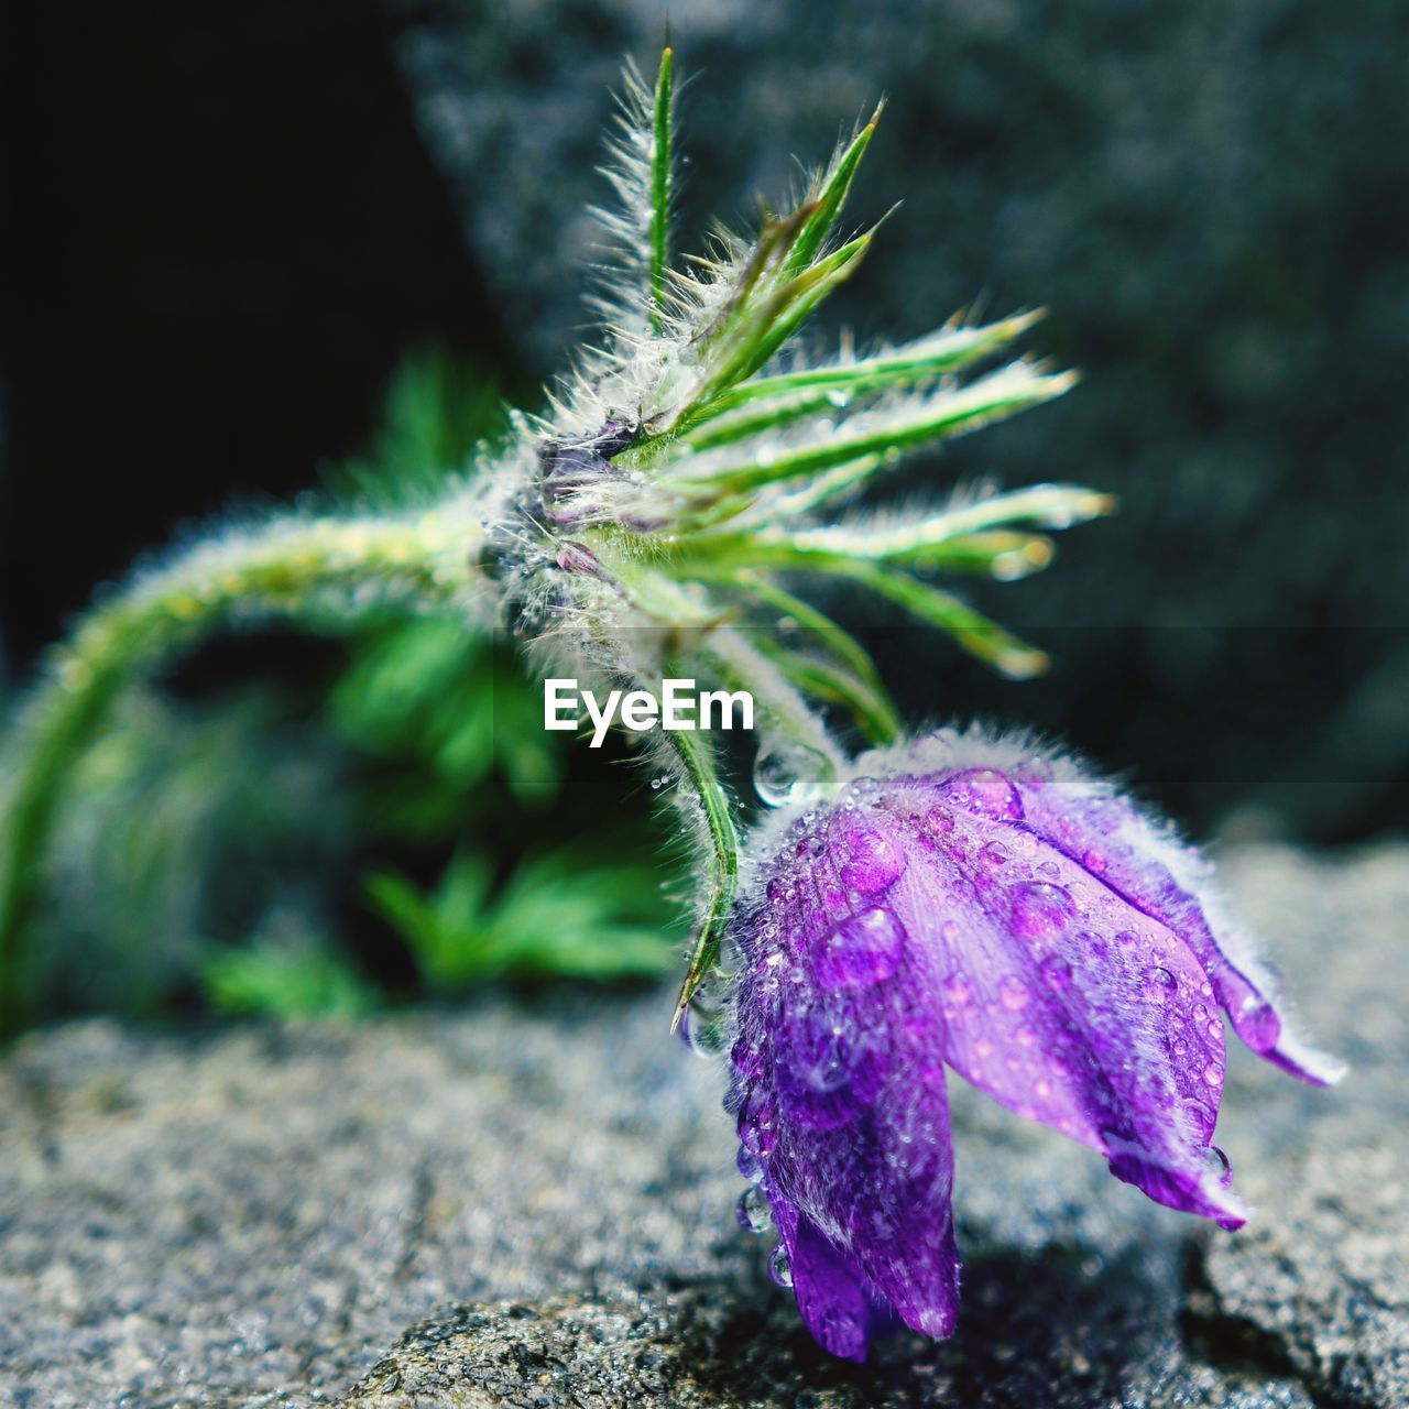
<instances>
[{"instance_id":1,"label":"rough gray stone surface beneath the drooping purple flower","mask_svg":"<svg viewBox=\"0 0 1409 1409\"><path fill-rule=\"evenodd\" d=\"M1406 1405L1409 848L1226 875L1354 1064L1326 1093L1231 1062L1239 1234L958 1091L961 1332L838 1365L734 1224L720 1076L662 993L87 1022L0 1067L0 1402Z\"/></svg>"}]
</instances>

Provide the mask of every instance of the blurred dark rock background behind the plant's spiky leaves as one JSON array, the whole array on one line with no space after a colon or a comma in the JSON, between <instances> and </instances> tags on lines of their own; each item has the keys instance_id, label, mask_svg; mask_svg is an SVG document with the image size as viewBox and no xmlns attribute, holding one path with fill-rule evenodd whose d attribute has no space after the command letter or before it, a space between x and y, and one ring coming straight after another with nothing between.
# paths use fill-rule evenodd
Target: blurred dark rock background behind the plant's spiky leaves
<instances>
[{"instance_id":1,"label":"blurred dark rock background behind the plant's spiky leaves","mask_svg":"<svg viewBox=\"0 0 1409 1409\"><path fill-rule=\"evenodd\" d=\"M609 89L623 55L652 62L665 6L3 23L17 679L134 554L364 448L417 348L533 399L583 330ZM693 75L685 247L712 213L751 220L883 93L857 220L903 204L814 337L1043 304L1033 345L1085 373L898 486L1076 479L1123 503L1048 573L981 593L1051 651L1041 682L876 623L914 717L1034 723L1202 834L1403 827L1409 8L706 0L671 24ZM275 644L201 669L309 668Z\"/></svg>"}]
</instances>

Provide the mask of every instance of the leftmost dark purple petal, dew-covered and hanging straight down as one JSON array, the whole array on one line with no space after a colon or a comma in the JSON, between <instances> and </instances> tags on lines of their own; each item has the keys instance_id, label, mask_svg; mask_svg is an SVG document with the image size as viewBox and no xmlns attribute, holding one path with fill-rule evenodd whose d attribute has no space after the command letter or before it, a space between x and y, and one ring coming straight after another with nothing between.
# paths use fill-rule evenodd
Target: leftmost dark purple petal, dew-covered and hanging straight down
<instances>
[{"instance_id":1,"label":"leftmost dark purple petal, dew-covered and hanging straight down","mask_svg":"<svg viewBox=\"0 0 1409 1409\"><path fill-rule=\"evenodd\" d=\"M781 923L775 944L748 945L734 1068L740 1138L803 1319L859 1360L892 1308L926 1334L952 1332L952 1151L938 1033L907 971L914 945L874 903L903 871L898 838L838 821L828 840L824 864L775 878Z\"/></svg>"}]
</instances>

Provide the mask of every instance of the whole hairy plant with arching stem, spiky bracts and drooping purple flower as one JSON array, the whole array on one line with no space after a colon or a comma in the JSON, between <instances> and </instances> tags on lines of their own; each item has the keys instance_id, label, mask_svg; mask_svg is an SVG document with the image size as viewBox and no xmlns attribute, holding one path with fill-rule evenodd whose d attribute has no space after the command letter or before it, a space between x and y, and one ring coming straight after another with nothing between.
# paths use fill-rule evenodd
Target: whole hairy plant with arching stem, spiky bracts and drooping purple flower
<instances>
[{"instance_id":1,"label":"whole hairy plant with arching stem, spiky bracts and drooping purple flower","mask_svg":"<svg viewBox=\"0 0 1409 1409\"><path fill-rule=\"evenodd\" d=\"M823 1344L864 1354L892 1312L930 1334L952 1324L944 1064L1092 1144L1151 1196L1240 1217L1203 1164L1222 1072L1215 1009L1296 1074L1327 1071L1224 958L1202 892L1175 879L1185 861L1067 765L1047 786L1034 747L905 743L865 648L807 586L861 588L1000 674L1030 676L1043 652L936 578L1040 571L1050 533L1112 509L1078 485L844 509L902 457L1074 380L1007 355L1033 313L954 320L867 354L799 349L874 244L874 227L848 232L843 220L878 117L751 238L719 230L674 263L666 49L654 85L628 73L612 141L602 338L542 414L516 413L507 442L444 492L223 528L90 610L6 744L10 1027L65 769L128 679L247 617L318 628L372 609L449 610L466 631L510 627L545 672L751 693L755 783L779 807L752 837L741 840L706 734L664 734L651 751L699 848L675 1019L693 1010L699 1043L734 1038L744 1167ZM783 620L806 645L776 631ZM882 750L872 781L838 719Z\"/></svg>"}]
</instances>

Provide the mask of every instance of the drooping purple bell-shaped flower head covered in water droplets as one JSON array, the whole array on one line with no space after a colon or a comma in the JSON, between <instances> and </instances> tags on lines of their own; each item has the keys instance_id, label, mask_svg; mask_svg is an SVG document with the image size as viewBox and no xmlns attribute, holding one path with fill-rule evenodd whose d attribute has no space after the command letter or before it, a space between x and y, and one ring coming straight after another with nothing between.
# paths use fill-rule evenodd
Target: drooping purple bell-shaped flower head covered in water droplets
<instances>
[{"instance_id":1,"label":"drooping purple bell-shaped flower head covered in water droplets","mask_svg":"<svg viewBox=\"0 0 1409 1409\"><path fill-rule=\"evenodd\" d=\"M1026 740L868 755L764 841L731 923L728 1106L775 1275L836 1355L895 1319L954 1329L945 1068L1226 1229L1247 1213L1210 1144L1223 1013L1285 1071L1339 1075L1234 957L1206 864Z\"/></svg>"}]
</instances>

